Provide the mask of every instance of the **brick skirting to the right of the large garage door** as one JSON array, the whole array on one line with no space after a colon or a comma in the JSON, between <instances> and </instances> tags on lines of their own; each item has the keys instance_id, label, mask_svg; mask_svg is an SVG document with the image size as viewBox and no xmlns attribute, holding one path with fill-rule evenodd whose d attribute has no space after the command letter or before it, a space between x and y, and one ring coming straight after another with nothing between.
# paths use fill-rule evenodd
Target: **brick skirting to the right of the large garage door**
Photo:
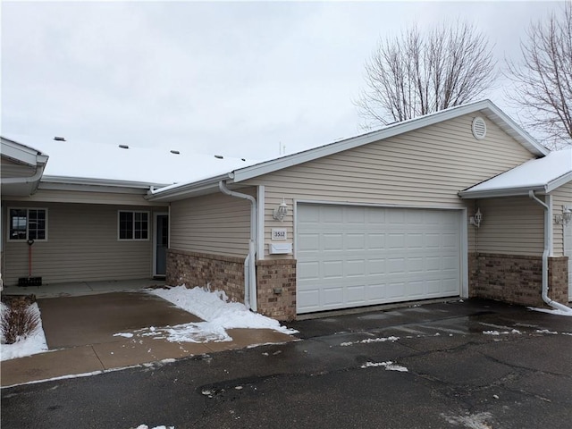
<instances>
[{"instance_id":1,"label":"brick skirting to the right of the large garage door","mask_svg":"<svg viewBox=\"0 0 572 429\"><path fill-rule=\"evenodd\" d=\"M568 303L568 257L549 257L549 297ZM543 258L469 253L469 296L521 306L547 307L542 298Z\"/></svg>"}]
</instances>

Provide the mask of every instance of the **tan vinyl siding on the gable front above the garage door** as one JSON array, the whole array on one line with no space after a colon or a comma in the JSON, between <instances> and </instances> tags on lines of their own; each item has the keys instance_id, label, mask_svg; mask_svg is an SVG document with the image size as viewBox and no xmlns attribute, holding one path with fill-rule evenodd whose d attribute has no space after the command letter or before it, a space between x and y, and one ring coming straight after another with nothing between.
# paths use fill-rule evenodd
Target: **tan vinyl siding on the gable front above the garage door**
<instances>
[{"instance_id":1,"label":"tan vinyl siding on the gable front above the garage door","mask_svg":"<svg viewBox=\"0 0 572 429\"><path fill-rule=\"evenodd\" d=\"M459 190L534 158L486 119L487 137L475 139L474 117L462 116L248 181L265 185L265 248L273 227L287 228L293 237L291 210L282 223L272 217L282 198L290 209L294 200L472 207L470 200L458 198Z\"/></svg>"}]
</instances>

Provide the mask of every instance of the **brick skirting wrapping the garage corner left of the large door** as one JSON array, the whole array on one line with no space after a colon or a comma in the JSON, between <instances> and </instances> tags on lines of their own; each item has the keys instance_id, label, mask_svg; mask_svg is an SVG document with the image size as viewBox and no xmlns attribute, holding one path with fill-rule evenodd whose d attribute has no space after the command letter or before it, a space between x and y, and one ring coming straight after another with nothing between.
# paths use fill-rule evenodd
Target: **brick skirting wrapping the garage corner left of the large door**
<instances>
[{"instance_id":1,"label":"brick skirting wrapping the garage corner left of the large door","mask_svg":"<svg viewBox=\"0 0 572 429\"><path fill-rule=\"evenodd\" d=\"M169 249L166 283L224 290L244 302L244 258ZM278 320L296 317L296 260L257 261L257 310Z\"/></svg>"}]
</instances>

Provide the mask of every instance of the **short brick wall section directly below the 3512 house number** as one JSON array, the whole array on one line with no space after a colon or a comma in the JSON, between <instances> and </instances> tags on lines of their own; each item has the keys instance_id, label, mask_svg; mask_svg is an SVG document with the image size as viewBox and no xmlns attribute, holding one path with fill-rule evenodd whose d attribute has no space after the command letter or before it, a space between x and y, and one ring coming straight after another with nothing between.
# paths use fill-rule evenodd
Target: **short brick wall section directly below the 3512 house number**
<instances>
[{"instance_id":1,"label":"short brick wall section directly below the 3512 house number","mask_svg":"<svg viewBox=\"0 0 572 429\"><path fill-rule=\"evenodd\" d=\"M257 261L258 312L278 320L296 318L296 260Z\"/></svg>"}]
</instances>

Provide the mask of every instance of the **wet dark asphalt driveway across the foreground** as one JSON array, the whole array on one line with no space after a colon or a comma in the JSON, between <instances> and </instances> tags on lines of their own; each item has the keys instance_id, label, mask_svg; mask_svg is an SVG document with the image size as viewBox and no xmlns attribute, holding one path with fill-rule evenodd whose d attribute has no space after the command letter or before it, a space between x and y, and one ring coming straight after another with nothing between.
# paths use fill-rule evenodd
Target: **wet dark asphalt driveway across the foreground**
<instances>
[{"instance_id":1,"label":"wet dark asphalt driveway across the foreground","mask_svg":"<svg viewBox=\"0 0 572 429\"><path fill-rule=\"evenodd\" d=\"M289 326L301 341L3 389L2 427L570 427L572 317L468 300Z\"/></svg>"}]
</instances>

